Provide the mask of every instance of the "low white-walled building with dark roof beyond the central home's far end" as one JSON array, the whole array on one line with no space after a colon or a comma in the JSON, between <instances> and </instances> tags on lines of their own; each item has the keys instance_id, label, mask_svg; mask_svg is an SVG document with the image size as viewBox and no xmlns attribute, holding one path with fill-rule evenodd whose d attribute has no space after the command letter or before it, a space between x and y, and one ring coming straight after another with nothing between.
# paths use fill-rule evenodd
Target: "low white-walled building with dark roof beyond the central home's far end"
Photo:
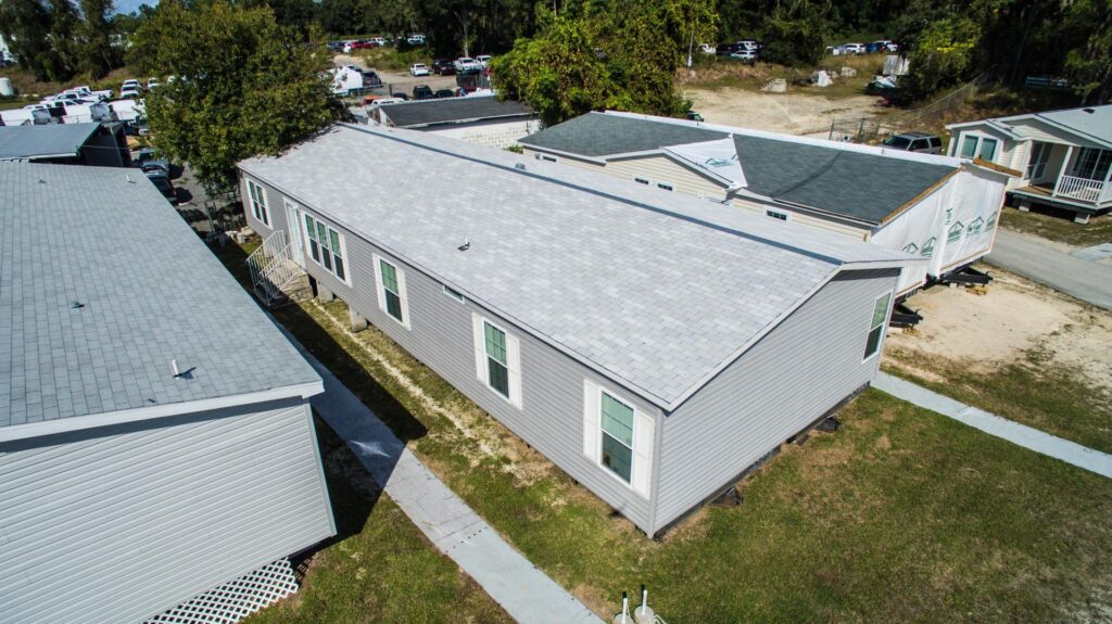
<instances>
[{"instance_id":1,"label":"low white-walled building with dark roof beyond the central home's far end","mask_svg":"<svg viewBox=\"0 0 1112 624\"><path fill-rule=\"evenodd\" d=\"M504 149L540 129L533 109L493 95L419 100L371 107L370 119L391 128L433 132L477 145Z\"/></svg>"}]
</instances>

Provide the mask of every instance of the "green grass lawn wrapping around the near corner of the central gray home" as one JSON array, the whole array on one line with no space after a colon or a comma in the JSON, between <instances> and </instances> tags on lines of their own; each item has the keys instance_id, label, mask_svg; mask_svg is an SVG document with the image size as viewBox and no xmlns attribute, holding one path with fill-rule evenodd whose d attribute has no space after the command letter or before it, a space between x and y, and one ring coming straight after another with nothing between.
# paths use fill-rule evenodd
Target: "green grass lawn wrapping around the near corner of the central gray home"
<instances>
[{"instance_id":1,"label":"green grass lawn wrapping around the near corner of the central gray home","mask_svg":"<svg viewBox=\"0 0 1112 624\"><path fill-rule=\"evenodd\" d=\"M244 253L229 245L219 254L242 280ZM376 329L347 331L342 303L305 302L276 315L503 536L599 615L646 583L673 624L1112 617L1112 482L882 393L845 407L838 433L785 449L743 485L742 505L705 509L652 541ZM335 447L327 452L331 463ZM335 497L338 506L349 500ZM370 519L393 512L380 502ZM328 611L330 602L414 591L418 580L389 578L385 567L376 570L386 580L367 584L351 572L344 548L381 556L393 547L378 543L384 536L394 531L368 522L325 548L306 591L260 621L364 621L354 607ZM495 617L481 606L469 614ZM430 612L424 621L438 620Z\"/></svg>"}]
</instances>

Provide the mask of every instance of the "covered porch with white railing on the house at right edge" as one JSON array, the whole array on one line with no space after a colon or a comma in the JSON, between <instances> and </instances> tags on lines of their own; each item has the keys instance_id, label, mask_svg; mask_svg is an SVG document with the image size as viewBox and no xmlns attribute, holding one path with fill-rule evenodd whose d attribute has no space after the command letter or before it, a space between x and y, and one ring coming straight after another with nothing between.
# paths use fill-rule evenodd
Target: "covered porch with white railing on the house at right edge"
<instances>
[{"instance_id":1,"label":"covered porch with white railing on the house at right edge","mask_svg":"<svg viewBox=\"0 0 1112 624\"><path fill-rule=\"evenodd\" d=\"M1073 210L1074 221L1112 208L1112 150L1032 141L1020 185L1020 210L1032 201Z\"/></svg>"}]
</instances>

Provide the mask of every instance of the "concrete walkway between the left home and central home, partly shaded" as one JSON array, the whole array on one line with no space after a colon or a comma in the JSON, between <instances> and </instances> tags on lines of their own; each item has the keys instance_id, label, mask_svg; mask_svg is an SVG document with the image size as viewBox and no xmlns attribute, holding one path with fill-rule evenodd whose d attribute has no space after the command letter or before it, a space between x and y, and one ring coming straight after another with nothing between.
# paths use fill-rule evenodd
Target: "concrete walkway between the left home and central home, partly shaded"
<instances>
[{"instance_id":1,"label":"concrete walkway between the left home and central home, partly shaded","mask_svg":"<svg viewBox=\"0 0 1112 624\"><path fill-rule=\"evenodd\" d=\"M414 524L512 617L529 624L602 624L575 596L499 537L324 364L292 335L286 335L325 381L325 393L311 399L317 413L347 441Z\"/></svg>"}]
</instances>

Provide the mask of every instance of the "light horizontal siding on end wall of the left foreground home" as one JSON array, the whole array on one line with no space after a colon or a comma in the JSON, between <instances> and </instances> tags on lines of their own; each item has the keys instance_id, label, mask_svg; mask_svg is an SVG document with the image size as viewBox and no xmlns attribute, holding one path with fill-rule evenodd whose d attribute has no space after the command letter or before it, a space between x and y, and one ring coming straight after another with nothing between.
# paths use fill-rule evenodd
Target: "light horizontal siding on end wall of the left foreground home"
<instances>
[{"instance_id":1,"label":"light horizontal siding on end wall of the left foreground home","mask_svg":"<svg viewBox=\"0 0 1112 624\"><path fill-rule=\"evenodd\" d=\"M0 621L140 622L335 533L301 400L0 444Z\"/></svg>"}]
</instances>

